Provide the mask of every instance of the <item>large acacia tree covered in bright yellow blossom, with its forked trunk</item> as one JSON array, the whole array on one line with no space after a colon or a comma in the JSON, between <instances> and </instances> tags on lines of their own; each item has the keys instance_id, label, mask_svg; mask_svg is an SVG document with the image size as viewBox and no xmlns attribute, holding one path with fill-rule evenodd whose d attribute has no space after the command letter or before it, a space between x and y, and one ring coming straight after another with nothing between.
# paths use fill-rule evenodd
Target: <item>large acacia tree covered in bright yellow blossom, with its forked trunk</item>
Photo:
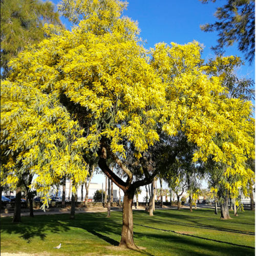
<instances>
[{"instance_id":1,"label":"large acacia tree covered in bright yellow blossom, with its forked trunk","mask_svg":"<svg viewBox=\"0 0 256 256\"><path fill-rule=\"evenodd\" d=\"M74 5L70 5L71 2ZM177 136L182 133L189 143L197 145L194 161L207 161L208 156L214 155L216 161L227 162L228 173L250 176L241 154L244 150L249 157L254 154L247 132L251 129L248 119L251 105L239 99L229 99L223 95L219 77L209 78L202 73L199 67L203 62L202 48L197 42L185 46L158 44L151 51L150 61L138 38L137 24L121 17L125 3L115 0L67 0L63 3L62 10L67 9L68 13L77 10L78 5L78 10L83 13L79 25L72 31L59 30L58 33L54 26L46 25L45 33L49 39L10 61L12 71L8 80L1 83L1 89L4 84L6 102L10 102L10 97L16 102L17 95L27 99L19 91L13 94L19 87L35 91L32 94L37 96L34 101L22 105L26 115L20 115L24 122L30 117L29 111L32 114L39 111L41 115L34 117L39 122L34 123L32 119L32 123L26 122L26 130L22 127L26 136L44 133L40 121L45 116L53 120L51 129L45 125L52 136L43 136L43 139L40 136L42 141L38 141L38 136L33 137L28 144L32 149L39 149L24 156L26 162L36 155L34 152L44 148L44 153L51 148L48 153L51 157L42 158L46 162L38 157L39 154L34 157L41 167L30 169L39 175L35 181L40 185L37 189L47 195L49 186L59 182L59 174L60 177L61 174L72 174L76 184L84 182L87 175L84 152L98 156L103 173L124 192L120 246L137 248L133 238L133 198L136 188L152 183L159 173L158 165L152 168L152 162L157 161L149 160L151 156L157 156L152 151L158 152L160 145L168 144L161 140L161 136L177 140L178 144ZM37 104L37 98L45 104ZM57 113L50 112L49 98L55 103L53 106L59 107ZM242 118L244 116L246 118ZM28 129L30 124L32 131ZM23 134L17 136L16 126L8 123L1 129L9 153L16 150L16 144L24 145ZM67 134L60 136L61 131ZM222 148L215 143L216 134L220 134L226 143ZM228 141L227 134L232 135L232 142ZM13 146L10 139L14 141L14 135L17 139ZM159 158L163 157L161 151L159 154ZM171 150L166 154L170 162L174 162L178 151ZM112 172L108 159L122 169L124 179ZM136 159L132 165L131 159ZM49 166L49 170L46 169ZM11 168L9 172L12 170L17 175L16 169ZM6 182L11 183L12 178L7 178Z\"/></svg>"}]
</instances>

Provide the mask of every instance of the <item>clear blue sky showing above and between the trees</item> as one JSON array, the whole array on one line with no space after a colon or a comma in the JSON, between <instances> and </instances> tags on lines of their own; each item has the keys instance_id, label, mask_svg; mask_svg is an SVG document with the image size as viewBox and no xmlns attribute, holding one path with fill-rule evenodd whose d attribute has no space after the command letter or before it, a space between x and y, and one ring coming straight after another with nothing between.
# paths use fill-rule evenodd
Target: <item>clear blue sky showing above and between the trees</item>
<instances>
[{"instance_id":1,"label":"clear blue sky showing above and between the trees","mask_svg":"<svg viewBox=\"0 0 256 256\"><path fill-rule=\"evenodd\" d=\"M53 0L58 4L59 0ZM158 42L176 42L187 44L193 40L204 45L203 58L214 57L211 46L217 43L217 33L205 33L201 31L200 25L214 23L213 14L216 8L222 6L225 1L217 0L216 3L203 5L199 0L130 0L124 15L139 22L140 36L147 41L146 48L153 48ZM62 23L70 29L71 24L67 19L61 17ZM237 50L237 46L226 49L225 55L243 54ZM255 80L255 60L252 66L246 65L238 71L240 76L247 75ZM255 102L254 102L255 103ZM95 183L104 182L104 177L96 175ZM204 182L204 186L206 183Z\"/></svg>"}]
</instances>

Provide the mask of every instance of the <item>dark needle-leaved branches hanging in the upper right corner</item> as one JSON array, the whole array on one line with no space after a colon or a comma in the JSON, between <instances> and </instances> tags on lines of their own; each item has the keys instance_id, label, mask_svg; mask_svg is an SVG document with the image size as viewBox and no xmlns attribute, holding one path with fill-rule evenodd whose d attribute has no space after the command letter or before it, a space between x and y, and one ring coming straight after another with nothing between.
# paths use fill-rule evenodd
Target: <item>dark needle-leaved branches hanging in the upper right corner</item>
<instances>
[{"instance_id":1,"label":"dark needle-leaved branches hanging in the upper right corner","mask_svg":"<svg viewBox=\"0 0 256 256\"><path fill-rule=\"evenodd\" d=\"M252 63L255 58L255 0L226 0L226 4L217 9L215 17L218 21L214 24L201 26L205 32L218 32L218 45L212 49L223 53L225 46L238 42L238 49L244 53L245 59Z\"/></svg>"}]
</instances>

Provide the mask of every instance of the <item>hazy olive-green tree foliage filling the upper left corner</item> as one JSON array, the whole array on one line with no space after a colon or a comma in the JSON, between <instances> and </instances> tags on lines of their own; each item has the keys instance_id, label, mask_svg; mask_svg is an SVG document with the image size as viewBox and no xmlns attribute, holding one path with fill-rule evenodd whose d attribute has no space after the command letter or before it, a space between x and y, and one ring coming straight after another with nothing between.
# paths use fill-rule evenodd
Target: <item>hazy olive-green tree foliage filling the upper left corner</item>
<instances>
[{"instance_id":1,"label":"hazy olive-green tree foliage filling the upper left corner","mask_svg":"<svg viewBox=\"0 0 256 256\"><path fill-rule=\"evenodd\" d=\"M1 1L1 68L6 77L8 62L26 46L45 38L45 23L61 25L54 4L41 0ZM1 72L2 73L2 72Z\"/></svg>"}]
</instances>

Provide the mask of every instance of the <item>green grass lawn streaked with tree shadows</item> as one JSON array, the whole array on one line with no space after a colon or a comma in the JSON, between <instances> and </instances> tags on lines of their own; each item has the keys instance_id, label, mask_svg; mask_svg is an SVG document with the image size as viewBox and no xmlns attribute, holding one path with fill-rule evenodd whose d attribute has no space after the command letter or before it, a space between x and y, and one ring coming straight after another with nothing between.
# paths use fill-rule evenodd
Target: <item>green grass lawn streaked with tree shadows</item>
<instances>
[{"instance_id":1,"label":"green grass lawn streaked with tree shadows","mask_svg":"<svg viewBox=\"0 0 256 256\"><path fill-rule=\"evenodd\" d=\"M20 224L1 218L1 252L41 255L252 256L255 255L255 212L220 220L211 209L157 210L150 217L134 211L134 237L145 250L117 247L122 212L23 217ZM62 244L61 249L53 249Z\"/></svg>"}]
</instances>

